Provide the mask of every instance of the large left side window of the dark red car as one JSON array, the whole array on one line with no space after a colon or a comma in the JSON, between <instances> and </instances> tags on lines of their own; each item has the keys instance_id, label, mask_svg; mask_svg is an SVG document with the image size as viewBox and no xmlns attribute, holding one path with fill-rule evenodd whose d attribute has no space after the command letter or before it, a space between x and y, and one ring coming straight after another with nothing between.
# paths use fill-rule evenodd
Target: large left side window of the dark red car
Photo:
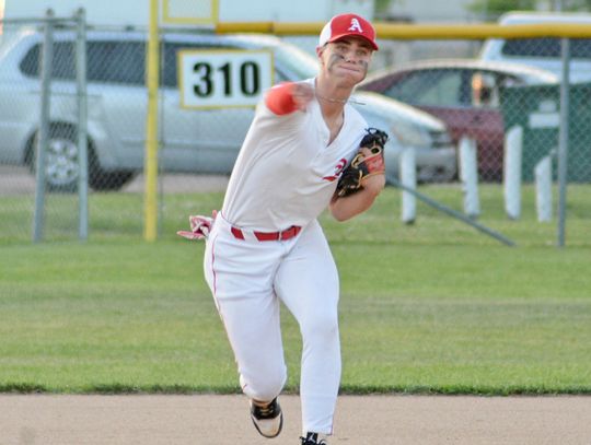
<instances>
[{"instance_id":1,"label":"large left side window of the dark red car","mask_svg":"<svg viewBox=\"0 0 591 445\"><path fill-rule=\"evenodd\" d=\"M462 87L460 70L424 70L406 75L390 86L387 96L413 105L462 106L470 98Z\"/></svg>"}]
</instances>

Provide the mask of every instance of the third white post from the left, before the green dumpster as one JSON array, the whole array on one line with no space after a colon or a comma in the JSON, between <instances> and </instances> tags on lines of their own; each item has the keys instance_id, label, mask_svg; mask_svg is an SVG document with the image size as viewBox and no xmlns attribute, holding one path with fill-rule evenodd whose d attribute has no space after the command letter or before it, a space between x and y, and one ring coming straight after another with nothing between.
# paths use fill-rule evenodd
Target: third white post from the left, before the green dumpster
<instances>
[{"instance_id":1,"label":"third white post from the left, before the green dumpster","mask_svg":"<svg viewBox=\"0 0 591 445\"><path fill-rule=\"evenodd\" d=\"M505 210L512 220L521 215L521 155L523 128L514 126L505 136L503 186Z\"/></svg>"}]
</instances>

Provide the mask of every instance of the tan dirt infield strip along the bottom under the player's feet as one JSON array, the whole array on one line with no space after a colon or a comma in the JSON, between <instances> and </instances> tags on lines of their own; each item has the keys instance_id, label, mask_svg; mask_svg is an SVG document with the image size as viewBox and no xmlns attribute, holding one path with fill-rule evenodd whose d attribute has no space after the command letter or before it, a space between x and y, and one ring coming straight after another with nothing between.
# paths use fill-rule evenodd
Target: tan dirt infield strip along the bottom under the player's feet
<instances>
[{"instance_id":1,"label":"tan dirt infield strip along the bottom under the player's feet","mask_svg":"<svg viewBox=\"0 0 591 445\"><path fill-rule=\"evenodd\" d=\"M243 396L0 395L2 445L297 445L300 402L265 440ZM591 445L591 397L344 396L331 445Z\"/></svg>"}]
</instances>

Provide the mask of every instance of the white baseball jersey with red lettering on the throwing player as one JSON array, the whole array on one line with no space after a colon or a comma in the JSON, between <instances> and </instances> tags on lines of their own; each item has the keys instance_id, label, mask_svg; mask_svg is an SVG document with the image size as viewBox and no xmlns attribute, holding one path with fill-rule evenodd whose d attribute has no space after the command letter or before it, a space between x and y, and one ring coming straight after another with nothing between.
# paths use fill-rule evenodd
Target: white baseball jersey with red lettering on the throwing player
<instances>
[{"instance_id":1,"label":"white baseball jersey with red lettering on the throwing player","mask_svg":"<svg viewBox=\"0 0 591 445\"><path fill-rule=\"evenodd\" d=\"M314 86L314 80L309 82ZM241 227L305 226L328 204L338 176L359 148L366 120L345 106L344 125L329 130L317 101L305 113L277 116L262 103L232 172L222 214Z\"/></svg>"}]
</instances>

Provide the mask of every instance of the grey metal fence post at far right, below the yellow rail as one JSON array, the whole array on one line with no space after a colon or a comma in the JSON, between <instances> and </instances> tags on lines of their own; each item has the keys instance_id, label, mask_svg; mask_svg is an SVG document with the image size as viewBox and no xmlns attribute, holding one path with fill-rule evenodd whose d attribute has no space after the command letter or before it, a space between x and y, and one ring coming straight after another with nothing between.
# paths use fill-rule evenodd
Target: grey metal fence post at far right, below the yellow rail
<instances>
[{"instance_id":1,"label":"grey metal fence post at far right, below the yellow rail","mask_svg":"<svg viewBox=\"0 0 591 445\"><path fill-rule=\"evenodd\" d=\"M560 128L558 132L558 247L565 246L567 162L568 162L568 94L570 40L561 39L563 80L560 82Z\"/></svg>"}]
</instances>

